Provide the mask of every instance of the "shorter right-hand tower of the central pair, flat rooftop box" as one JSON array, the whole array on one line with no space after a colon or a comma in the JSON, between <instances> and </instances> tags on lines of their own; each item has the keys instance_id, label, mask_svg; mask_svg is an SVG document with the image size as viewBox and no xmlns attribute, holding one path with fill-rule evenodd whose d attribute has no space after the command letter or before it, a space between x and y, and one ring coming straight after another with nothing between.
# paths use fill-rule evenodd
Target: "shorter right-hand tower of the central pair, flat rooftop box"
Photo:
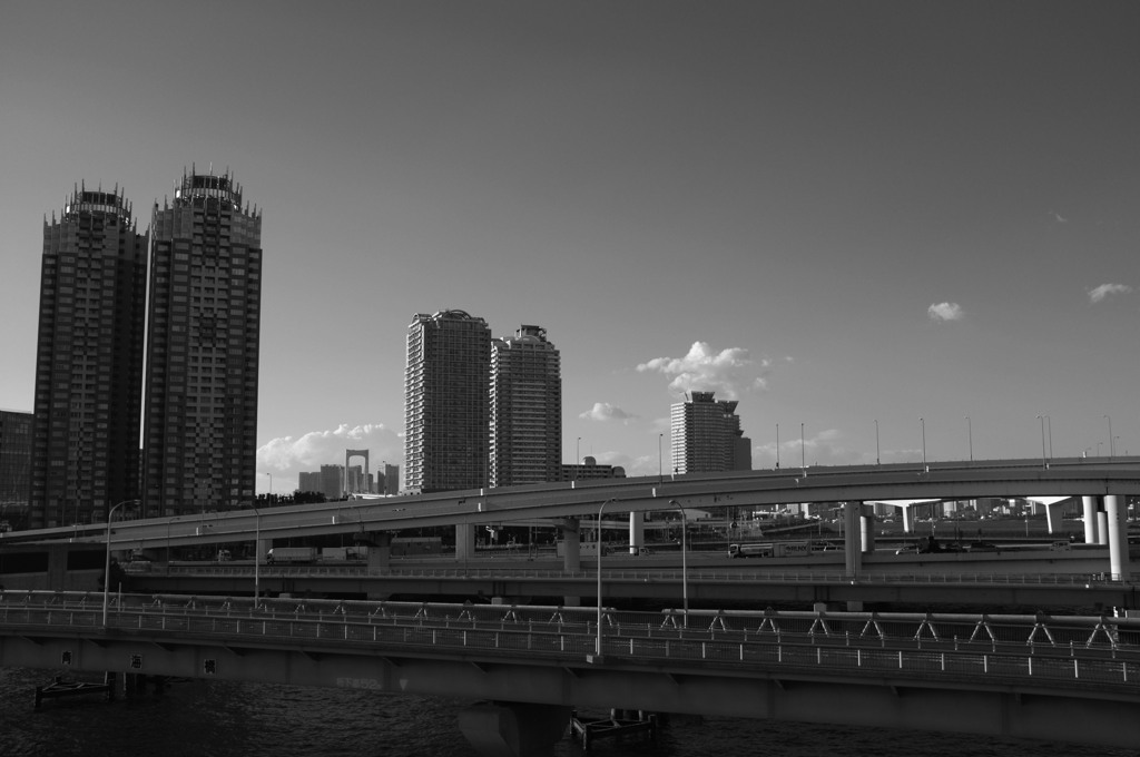
<instances>
[{"instance_id":1,"label":"shorter right-hand tower of the central pair, flat rooftop box","mask_svg":"<svg viewBox=\"0 0 1140 757\"><path fill-rule=\"evenodd\" d=\"M557 481L562 364L542 326L491 342L490 486Z\"/></svg>"}]
</instances>

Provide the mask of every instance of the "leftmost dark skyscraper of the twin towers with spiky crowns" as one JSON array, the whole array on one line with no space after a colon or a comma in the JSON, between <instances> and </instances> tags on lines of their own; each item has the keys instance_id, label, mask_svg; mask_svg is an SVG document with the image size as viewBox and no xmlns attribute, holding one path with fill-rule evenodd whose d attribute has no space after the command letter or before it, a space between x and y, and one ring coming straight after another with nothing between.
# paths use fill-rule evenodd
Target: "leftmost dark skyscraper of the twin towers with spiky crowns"
<instances>
[{"instance_id":1,"label":"leftmost dark skyscraper of the twin towers with spiky crowns","mask_svg":"<svg viewBox=\"0 0 1140 757\"><path fill-rule=\"evenodd\" d=\"M117 187L43 221L30 528L138 497L146 247Z\"/></svg>"}]
</instances>

